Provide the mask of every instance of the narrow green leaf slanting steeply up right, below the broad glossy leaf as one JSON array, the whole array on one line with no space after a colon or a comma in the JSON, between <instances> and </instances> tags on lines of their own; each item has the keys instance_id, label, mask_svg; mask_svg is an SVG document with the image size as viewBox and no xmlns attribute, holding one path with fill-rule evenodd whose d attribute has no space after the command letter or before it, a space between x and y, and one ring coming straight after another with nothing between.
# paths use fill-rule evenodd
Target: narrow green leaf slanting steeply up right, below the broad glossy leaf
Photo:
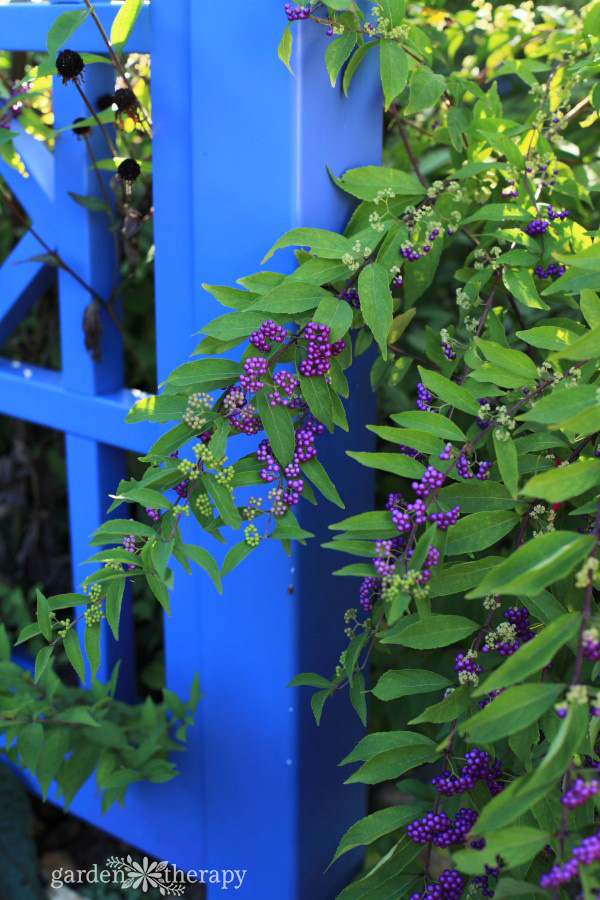
<instances>
[{"instance_id":1,"label":"narrow green leaf slanting steeply up right, below the broad glossy leaf","mask_svg":"<svg viewBox=\"0 0 600 900\"><path fill-rule=\"evenodd\" d=\"M535 640L522 644L509 656L483 684L473 692L475 697L489 694L501 687L510 687L539 672L554 659L561 647L577 634L581 618L577 613L566 613L538 632Z\"/></svg>"}]
</instances>

